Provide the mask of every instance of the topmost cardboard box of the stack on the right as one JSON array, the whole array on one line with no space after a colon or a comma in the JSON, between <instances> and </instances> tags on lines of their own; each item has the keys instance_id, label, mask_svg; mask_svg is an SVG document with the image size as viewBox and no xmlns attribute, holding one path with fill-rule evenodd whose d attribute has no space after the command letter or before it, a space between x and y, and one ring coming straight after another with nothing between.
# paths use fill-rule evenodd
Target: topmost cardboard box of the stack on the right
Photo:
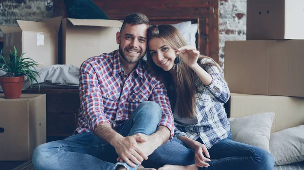
<instances>
[{"instance_id":1,"label":"topmost cardboard box of the stack on the right","mask_svg":"<svg viewBox=\"0 0 304 170\"><path fill-rule=\"evenodd\" d=\"M247 40L304 39L303 0L248 0Z\"/></svg>"}]
</instances>

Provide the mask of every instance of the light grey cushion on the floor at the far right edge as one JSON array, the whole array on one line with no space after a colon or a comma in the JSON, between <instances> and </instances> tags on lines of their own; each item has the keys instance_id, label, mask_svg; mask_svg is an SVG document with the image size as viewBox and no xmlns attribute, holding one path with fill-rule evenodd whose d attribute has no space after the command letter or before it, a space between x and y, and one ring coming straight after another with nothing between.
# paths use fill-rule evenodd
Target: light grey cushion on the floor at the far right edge
<instances>
[{"instance_id":1,"label":"light grey cushion on the floor at the far right edge","mask_svg":"<svg viewBox=\"0 0 304 170\"><path fill-rule=\"evenodd\" d=\"M275 165L304 161L304 125L272 133L269 145Z\"/></svg>"}]
</instances>

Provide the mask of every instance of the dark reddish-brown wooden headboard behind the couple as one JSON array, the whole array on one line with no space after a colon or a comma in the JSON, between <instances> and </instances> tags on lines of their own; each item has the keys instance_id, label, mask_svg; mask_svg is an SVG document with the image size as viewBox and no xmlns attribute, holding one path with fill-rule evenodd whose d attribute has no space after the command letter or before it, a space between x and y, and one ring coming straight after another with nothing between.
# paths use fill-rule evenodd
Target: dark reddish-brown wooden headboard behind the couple
<instances>
[{"instance_id":1,"label":"dark reddish-brown wooden headboard behind the couple","mask_svg":"<svg viewBox=\"0 0 304 170\"><path fill-rule=\"evenodd\" d=\"M132 12L145 14L151 24L198 23L197 47L219 61L218 0L92 0L111 20ZM65 16L62 0L54 0L54 16Z\"/></svg>"}]
</instances>

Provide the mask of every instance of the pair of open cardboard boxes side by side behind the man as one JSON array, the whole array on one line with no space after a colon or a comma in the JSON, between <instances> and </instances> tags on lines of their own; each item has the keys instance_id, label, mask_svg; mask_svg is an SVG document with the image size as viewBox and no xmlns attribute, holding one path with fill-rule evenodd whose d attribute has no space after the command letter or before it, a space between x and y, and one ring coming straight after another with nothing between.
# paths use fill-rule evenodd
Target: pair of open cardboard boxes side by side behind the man
<instances>
[{"instance_id":1,"label":"pair of open cardboard boxes side by side behind the man","mask_svg":"<svg viewBox=\"0 0 304 170\"><path fill-rule=\"evenodd\" d=\"M42 22L17 21L19 27L0 26L4 53L17 46L24 58L41 68L56 64L80 65L88 58L118 49L117 20L80 20L56 17Z\"/></svg>"}]
</instances>

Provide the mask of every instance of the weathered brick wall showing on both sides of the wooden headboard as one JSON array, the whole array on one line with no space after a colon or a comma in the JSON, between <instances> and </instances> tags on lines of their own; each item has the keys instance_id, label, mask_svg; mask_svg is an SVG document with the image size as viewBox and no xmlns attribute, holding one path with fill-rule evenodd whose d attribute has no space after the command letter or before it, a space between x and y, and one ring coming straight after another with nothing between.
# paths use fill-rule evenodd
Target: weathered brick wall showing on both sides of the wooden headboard
<instances>
[{"instance_id":1,"label":"weathered brick wall showing on both sides of the wooden headboard","mask_svg":"<svg viewBox=\"0 0 304 170\"><path fill-rule=\"evenodd\" d=\"M246 40L247 0L219 0L219 62L224 68L225 40ZM52 0L0 1L0 25L15 26L16 20L39 21L53 16ZM3 36L0 31L0 36Z\"/></svg>"}]
</instances>

